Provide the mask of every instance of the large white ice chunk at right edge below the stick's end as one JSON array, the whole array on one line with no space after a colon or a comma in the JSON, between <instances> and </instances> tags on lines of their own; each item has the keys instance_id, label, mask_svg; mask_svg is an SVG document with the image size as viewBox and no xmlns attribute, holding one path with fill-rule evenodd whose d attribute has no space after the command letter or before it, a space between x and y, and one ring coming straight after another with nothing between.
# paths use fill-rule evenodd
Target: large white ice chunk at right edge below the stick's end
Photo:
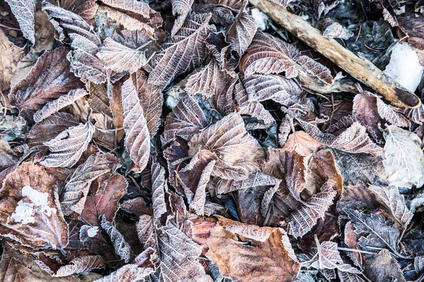
<instances>
[{"instance_id":1,"label":"large white ice chunk at right edge below the stick's end","mask_svg":"<svg viewBox=\"0 0 424 282\"><path fill-rule=\"evenodd\" d=\"M408 43L396 44L391 50L390 62L384 73L406 89L415 92L421 81L424 67L420 65L416 51Z\"/></svg>"}]
</instances>

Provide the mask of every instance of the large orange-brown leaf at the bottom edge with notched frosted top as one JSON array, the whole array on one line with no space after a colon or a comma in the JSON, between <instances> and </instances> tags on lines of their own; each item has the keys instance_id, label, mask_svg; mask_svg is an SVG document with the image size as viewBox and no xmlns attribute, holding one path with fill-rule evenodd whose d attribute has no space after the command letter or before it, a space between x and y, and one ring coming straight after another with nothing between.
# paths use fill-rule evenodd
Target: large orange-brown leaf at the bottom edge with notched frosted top
<instances>
[{"instance_id":1,"label":"large orange-brown leaf at the bottom edge with notched frosted top","mask_svg":"<svg viewBox=\"0 0 424 282\"><path fill-rule=\"evenodd\" d=\"M211 229L206 257L214 262L220 274L237 281L296 281L300 270L293 257L287 235L273 228L269 238L261 243L245 245L234 233L221 226Z\"/></svg>"}]
</instances>

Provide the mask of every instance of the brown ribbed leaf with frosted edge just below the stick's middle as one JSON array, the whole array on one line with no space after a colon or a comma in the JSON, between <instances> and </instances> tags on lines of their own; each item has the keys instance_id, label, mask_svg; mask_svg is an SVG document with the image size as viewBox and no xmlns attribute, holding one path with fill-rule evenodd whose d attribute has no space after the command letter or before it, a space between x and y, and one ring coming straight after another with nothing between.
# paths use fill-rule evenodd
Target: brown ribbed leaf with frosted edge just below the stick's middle
<instances>
[{"instance_id":1,"label":"brown ribbed leaf with frosted edge just below the stick's middle","mask_svg":"<svg viewBox=\"0 0 424 282\"><path fill-rule=\"evenodd\" d=\"M292 45L258 31L240 62L240 71L246 76L254 73L285 73L285 78L295 78L298 76L298 69L293 60L298 56L298 49Z\"/></svg>"}]
</instances>

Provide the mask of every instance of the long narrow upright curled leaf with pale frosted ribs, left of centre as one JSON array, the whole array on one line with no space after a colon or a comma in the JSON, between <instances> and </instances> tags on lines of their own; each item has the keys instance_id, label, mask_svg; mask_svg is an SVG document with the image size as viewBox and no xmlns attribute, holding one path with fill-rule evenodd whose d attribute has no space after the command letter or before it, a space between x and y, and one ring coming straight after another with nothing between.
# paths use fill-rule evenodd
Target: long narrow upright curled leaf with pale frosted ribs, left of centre
<instances>
[{"instance_id":1,"label":"long narrow upright curled leaf with pale frosted ribs, left of centre","mask_svg":"<svg viewBox=\"0 0 424 282\"><path fill-rule=\"evenodd\" d=\"M151 136L140 104L139 95L131 79L122 85L122 106L124 107L125 149L134 164L143 171L150 155Z\"/></svg>"}]
</instances>

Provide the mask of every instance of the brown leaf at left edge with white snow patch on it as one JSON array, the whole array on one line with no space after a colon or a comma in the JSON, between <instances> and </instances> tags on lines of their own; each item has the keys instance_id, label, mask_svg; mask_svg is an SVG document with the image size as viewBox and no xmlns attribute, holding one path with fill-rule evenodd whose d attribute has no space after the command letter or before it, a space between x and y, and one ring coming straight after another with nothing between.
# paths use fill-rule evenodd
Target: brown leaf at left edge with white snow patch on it
<instances>
[{"instance_id":1,"label":"brown leaf at left edge with white snow patch on it","mask_svg":"<svg viewBox=\"0 0 424 282\"><path fill-rule=\"evenodd\" d=\"M68 244L57 180L42 166L25 162L6 177L0 210L0 233L6 238L33 248L61 249Z\"/></svg>"}]
</instances>

